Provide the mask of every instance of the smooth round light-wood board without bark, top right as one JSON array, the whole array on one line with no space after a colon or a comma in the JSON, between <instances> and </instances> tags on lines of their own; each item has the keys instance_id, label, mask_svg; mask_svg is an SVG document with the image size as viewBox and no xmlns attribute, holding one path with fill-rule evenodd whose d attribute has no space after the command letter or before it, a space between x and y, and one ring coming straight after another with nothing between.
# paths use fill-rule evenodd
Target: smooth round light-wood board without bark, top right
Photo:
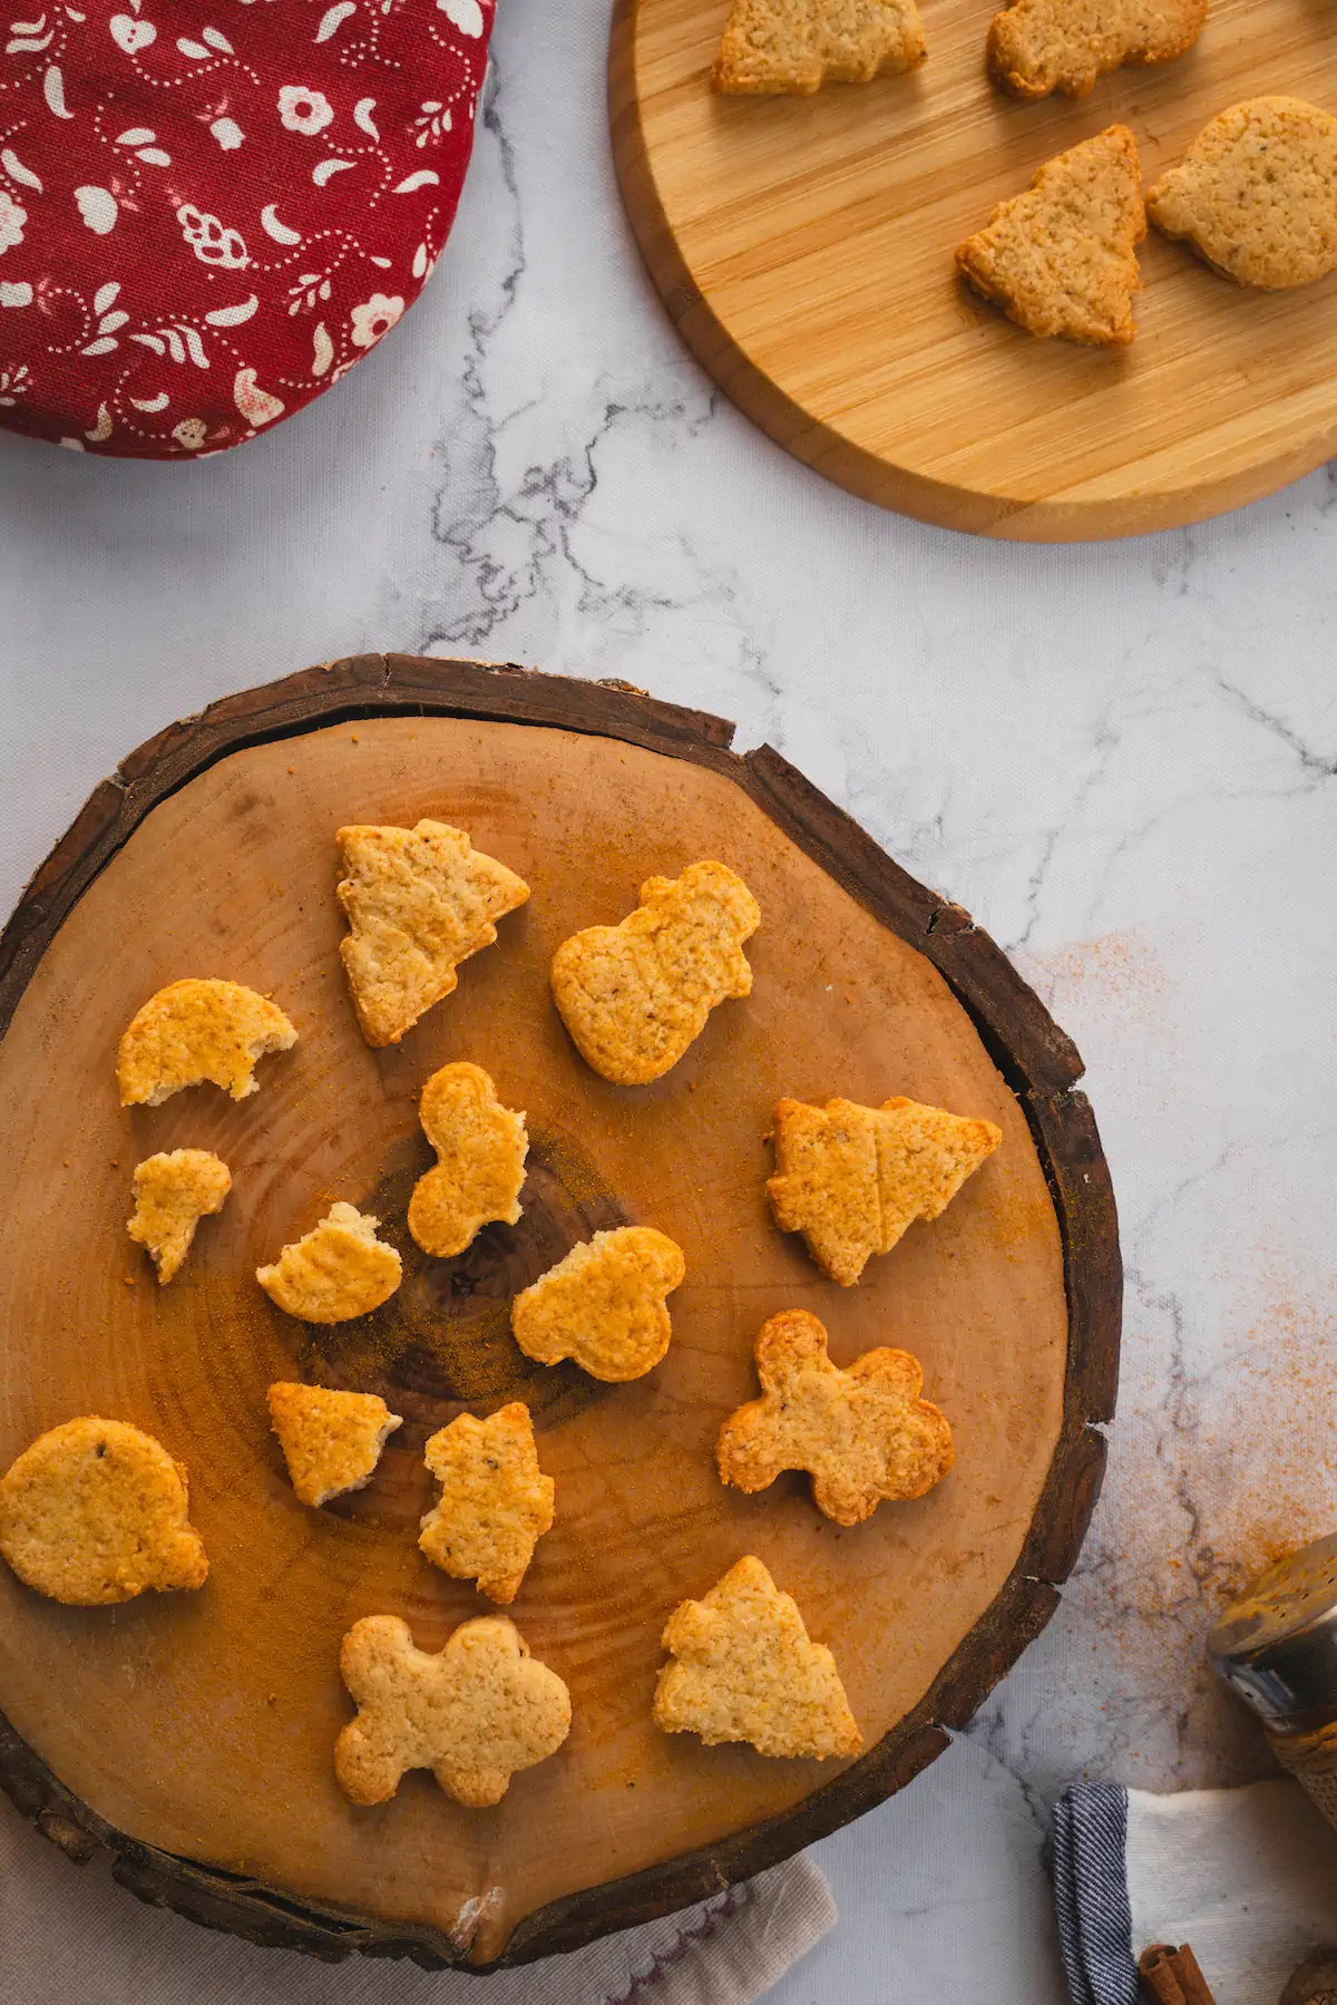
<instances>
[{"instance_id":1,"label":"smooth round light-wood board without bark, top right","mask_svg":"<svg viewBox=\"0 0 1337 2005\"><path fill-rule=\"evenodd\" d=\"M613 158L688 347L788 451L948 529L1133 535L1311 473L1337 453L1337 275L1243 293L1153 231L1139 337L1100 351L1012 327L952 251L1112 120L1151 182L1239 98L1337 112L1331 0L1213 0L1193 54L1042 104L990 84L992 12L922 0L914 76L724 98L708 72L728 0L619 0Z\"/></svg>"}]
</instances>

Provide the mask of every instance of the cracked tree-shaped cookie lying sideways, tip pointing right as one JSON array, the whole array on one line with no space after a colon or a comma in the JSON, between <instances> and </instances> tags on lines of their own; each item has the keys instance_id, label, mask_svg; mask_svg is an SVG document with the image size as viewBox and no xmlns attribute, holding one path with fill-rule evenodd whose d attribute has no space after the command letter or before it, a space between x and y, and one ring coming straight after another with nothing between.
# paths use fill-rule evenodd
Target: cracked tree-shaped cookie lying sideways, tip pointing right
<instances>
[{"instance_id":1,"label":"cracked tree-shaped cookie lying sideways, tip pointing right","mask_svg":"<svg viewBox=\"0 0 1337 2005\"><path fill-rule=\"evenodd\" d=\"M776 1175L766 1185L782 1233L802 1233L822 1273L854 1287L872 1253L890 1253L914 1219L936 1219L994 1153L1002 1129L894 1095L780 1101Z\"/></svg>"}]
</instances>

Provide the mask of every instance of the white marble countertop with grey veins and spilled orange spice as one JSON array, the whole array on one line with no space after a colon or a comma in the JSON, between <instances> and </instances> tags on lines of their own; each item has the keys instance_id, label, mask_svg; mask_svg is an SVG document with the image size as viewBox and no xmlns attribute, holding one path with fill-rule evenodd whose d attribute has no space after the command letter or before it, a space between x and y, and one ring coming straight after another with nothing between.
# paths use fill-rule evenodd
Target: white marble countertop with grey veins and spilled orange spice
<instances>
[{"instance_id":1,"label":"white marble countertop with grey veins and spilled orange spice","mask_svg":"<svg viewBox=\"0 0 1337 2005\"><path fill-rule=\"evenodd\" d=\"M842 1923L774 1997L936 2005L988 1969L998 2005L1056 2005L1046 1800L1263 1772L1201 1632L1337 1516L1337 465L1098 547L854 501L678 347L603 48L599 0L505 0L437 277L291 425L170 467L0 439L0 902L160 724L401 648L724 712L994 932L1076 1037L1115 1173L1110 1474L1044 1638L820 1849Z\"/></svg>"}]
</instances>

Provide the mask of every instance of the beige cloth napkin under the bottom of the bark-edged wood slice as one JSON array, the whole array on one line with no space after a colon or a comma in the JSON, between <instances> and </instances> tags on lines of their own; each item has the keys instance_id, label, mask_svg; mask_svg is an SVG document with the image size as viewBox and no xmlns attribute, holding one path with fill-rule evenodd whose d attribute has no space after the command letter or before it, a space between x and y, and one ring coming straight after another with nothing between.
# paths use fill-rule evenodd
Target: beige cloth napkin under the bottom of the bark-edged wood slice
<instances>
[{"instance_id":1,"label":"beige cloth napkin under the bottom of the bark-edged wood slice","mask_svg":"<svg viewBox=\"0 0 1337 2005\"><path fill-rule=\"evenodd\" d=\"M834 1921L824 1875L800 1855L682 1915L487 1979L327 1965L142 1907L0 1796L0 2005L752 2005Z\"/></svg>"}]
</instances>

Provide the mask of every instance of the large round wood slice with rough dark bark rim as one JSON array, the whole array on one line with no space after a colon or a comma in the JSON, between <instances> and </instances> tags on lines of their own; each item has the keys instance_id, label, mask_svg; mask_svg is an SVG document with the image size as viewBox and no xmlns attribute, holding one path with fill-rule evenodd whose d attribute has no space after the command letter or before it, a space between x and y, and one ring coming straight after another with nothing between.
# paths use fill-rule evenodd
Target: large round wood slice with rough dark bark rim
<instances>
[{"instance_id":1,"label":"large round wood slice with rough dark bark rim","mask_svg":"<svg viewBox=\"0 0 1337 2005\"><path fill-rule=\"evenodd\" d=\"M0 948L0 1468L74 1414L138 1422L190 1470L198 1594L60 1608L0 1566L0 1780L74 1857L136 1893L337 1957L525 1961L665 1913L856 1817L946 1744L1052 1614L1102 1468L1119 1349L1115 1209L1080 1061L966 914L922 890L774 752L637 692L363 656L216 704L92 796ZM333 830L441 816L515 866L531 902L399 1049L363 1043L339 962ZM575 1057L547 994L573 928L639 882L720 856L756 890L748 1002L657 1085ZM291 1011L261 1091L116 1105L132 1011L222 974ZM469 1057L529 1117L525 1215L427 1261L405 1201L427 1167L417 1093ZM892 1091L988 1115L998 1155L856 1289L766 1217L778 1095ZM132 1165L200 1145L233 1167L180 1277L130 1245ZM255 1267L331 1199L405 1253L393 1301L307 1329ZM515 1349L507 1303L601 1225L647 1221L688 1257L674 1345L599 1385ZM818 1311L832 1353L904 1343L952 1418L928 1498L840 1532L784 1478L714 1474L752 1395L752 1339ZM373 1486L305 1510L269 1434L275 1377L383 1391L405 1426ZM557 1524L511 1610L571 1686L567 1746L495 1811L411 1774L375 1811L331 1768L349 1718L339 1640L403 1614L425 1648L485 1608L417 1552L427 1434L529 1399ZM868 1752L764 1760L651 1728L672 1606L760 1554L836 1650Z\"/></svg>"}]
</instances>

